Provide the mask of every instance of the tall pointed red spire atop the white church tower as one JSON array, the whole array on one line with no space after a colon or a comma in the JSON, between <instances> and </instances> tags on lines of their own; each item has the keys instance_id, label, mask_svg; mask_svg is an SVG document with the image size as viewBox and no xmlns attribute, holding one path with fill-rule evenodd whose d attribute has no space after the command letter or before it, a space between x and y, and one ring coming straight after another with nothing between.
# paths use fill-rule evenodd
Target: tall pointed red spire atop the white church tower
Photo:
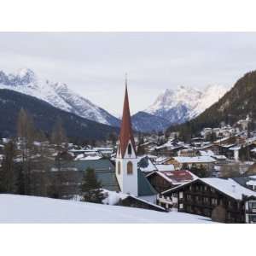
<instances>
[{"instance_id":1,"label":"tall pointed red spire atop the white church tower","mask_svg":"<svg viewBox=\"0 0 256 256\"><path fill-rule=\"evenodd\" d=\"M125 101L124 101L124 108L123 108L121 130L119 135L119 150L121 150L122 158L124 158L125 156L125 150L128 147L128 143L130 140L131 140L131 145L134 149L134 152L136 152L134 137L132 134L131 114L130 114L129 97L128 97L128 90L127 90L127 78L125 78Z\"/></svg>"}]
</instances>

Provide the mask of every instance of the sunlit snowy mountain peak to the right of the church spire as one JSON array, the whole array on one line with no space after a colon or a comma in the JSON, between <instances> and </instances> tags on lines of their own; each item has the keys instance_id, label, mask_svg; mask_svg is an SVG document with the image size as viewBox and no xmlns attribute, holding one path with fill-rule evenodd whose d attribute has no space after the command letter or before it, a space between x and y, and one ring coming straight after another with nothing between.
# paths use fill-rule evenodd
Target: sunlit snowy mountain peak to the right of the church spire
<instances>
[{"instance_id":1,"label":"sunlit snowy mountain peak to the right of the church spire","mask_svg":"<svg viewBox=\"0 0 256 256\"><path fill-rule=\"evenodd\" d=\"M145 112L168 119L172 124L180 124L209 108L226 91L227 88L220 85L209 85L204 90L185 86L176 90L167 89Z\"/></svg>"}]
</instances>

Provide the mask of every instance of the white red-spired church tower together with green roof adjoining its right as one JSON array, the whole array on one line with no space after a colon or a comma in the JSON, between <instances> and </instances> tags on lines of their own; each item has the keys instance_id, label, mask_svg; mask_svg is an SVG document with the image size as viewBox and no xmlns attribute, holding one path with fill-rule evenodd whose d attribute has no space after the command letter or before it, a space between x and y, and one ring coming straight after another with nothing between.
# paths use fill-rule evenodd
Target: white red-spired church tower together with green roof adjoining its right
<instances>
[{"instance_id":1,"label":"white red-spired church tower together with green roof adjoining its right","mask_svg":"<svg viewBox=\"0 0 256 256\"><path fill-rule=\"evenodd\" d=\"M144 173L138 168L137 163L138 158L131 125L127 79L125 79L125 100L115 160L115 175L119 183L119 189L124 194L155 203L157 192L148 182Z\"/></svg>"}]
</instances>

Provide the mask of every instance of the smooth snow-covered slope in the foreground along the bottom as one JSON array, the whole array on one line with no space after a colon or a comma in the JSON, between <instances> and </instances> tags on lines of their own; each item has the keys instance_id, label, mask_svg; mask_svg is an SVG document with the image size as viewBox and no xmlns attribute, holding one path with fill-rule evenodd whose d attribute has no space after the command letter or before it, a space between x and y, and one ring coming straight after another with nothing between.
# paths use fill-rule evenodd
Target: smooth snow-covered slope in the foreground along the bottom
<instances>
[{"instance_id":1,"label":"smooth snow-covered slope in the foreground along the bottom","mask_svg":"<svg viewBox=\"0 0 256 256\"><path fill-rule=\"evenodd\" d=\"M182 212L155 212L25 195L0 195L0 223L212 223Z\"/></svg>"}]
</instances>

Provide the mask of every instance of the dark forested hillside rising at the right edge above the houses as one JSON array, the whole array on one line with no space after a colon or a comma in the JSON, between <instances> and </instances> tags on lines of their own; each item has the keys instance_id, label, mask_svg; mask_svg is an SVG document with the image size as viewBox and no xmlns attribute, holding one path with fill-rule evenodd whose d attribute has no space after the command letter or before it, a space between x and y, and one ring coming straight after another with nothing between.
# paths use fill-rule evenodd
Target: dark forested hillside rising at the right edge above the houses
<instances>
[{"instance_id":1,"label":"dark forested hillside rising at the right edge above the houses","mask_svg":"<svg viewBox=\"0 0 256 256\"><path fill-rule=\"evenodd\" d=\"M256 71L246 73L218 102L207 108L195 119L183 125L171 126L168 131L196 134L205 127L217 127L224 121L234 124L250 114L256 117Z\"/></svg>"}]
</instances>

